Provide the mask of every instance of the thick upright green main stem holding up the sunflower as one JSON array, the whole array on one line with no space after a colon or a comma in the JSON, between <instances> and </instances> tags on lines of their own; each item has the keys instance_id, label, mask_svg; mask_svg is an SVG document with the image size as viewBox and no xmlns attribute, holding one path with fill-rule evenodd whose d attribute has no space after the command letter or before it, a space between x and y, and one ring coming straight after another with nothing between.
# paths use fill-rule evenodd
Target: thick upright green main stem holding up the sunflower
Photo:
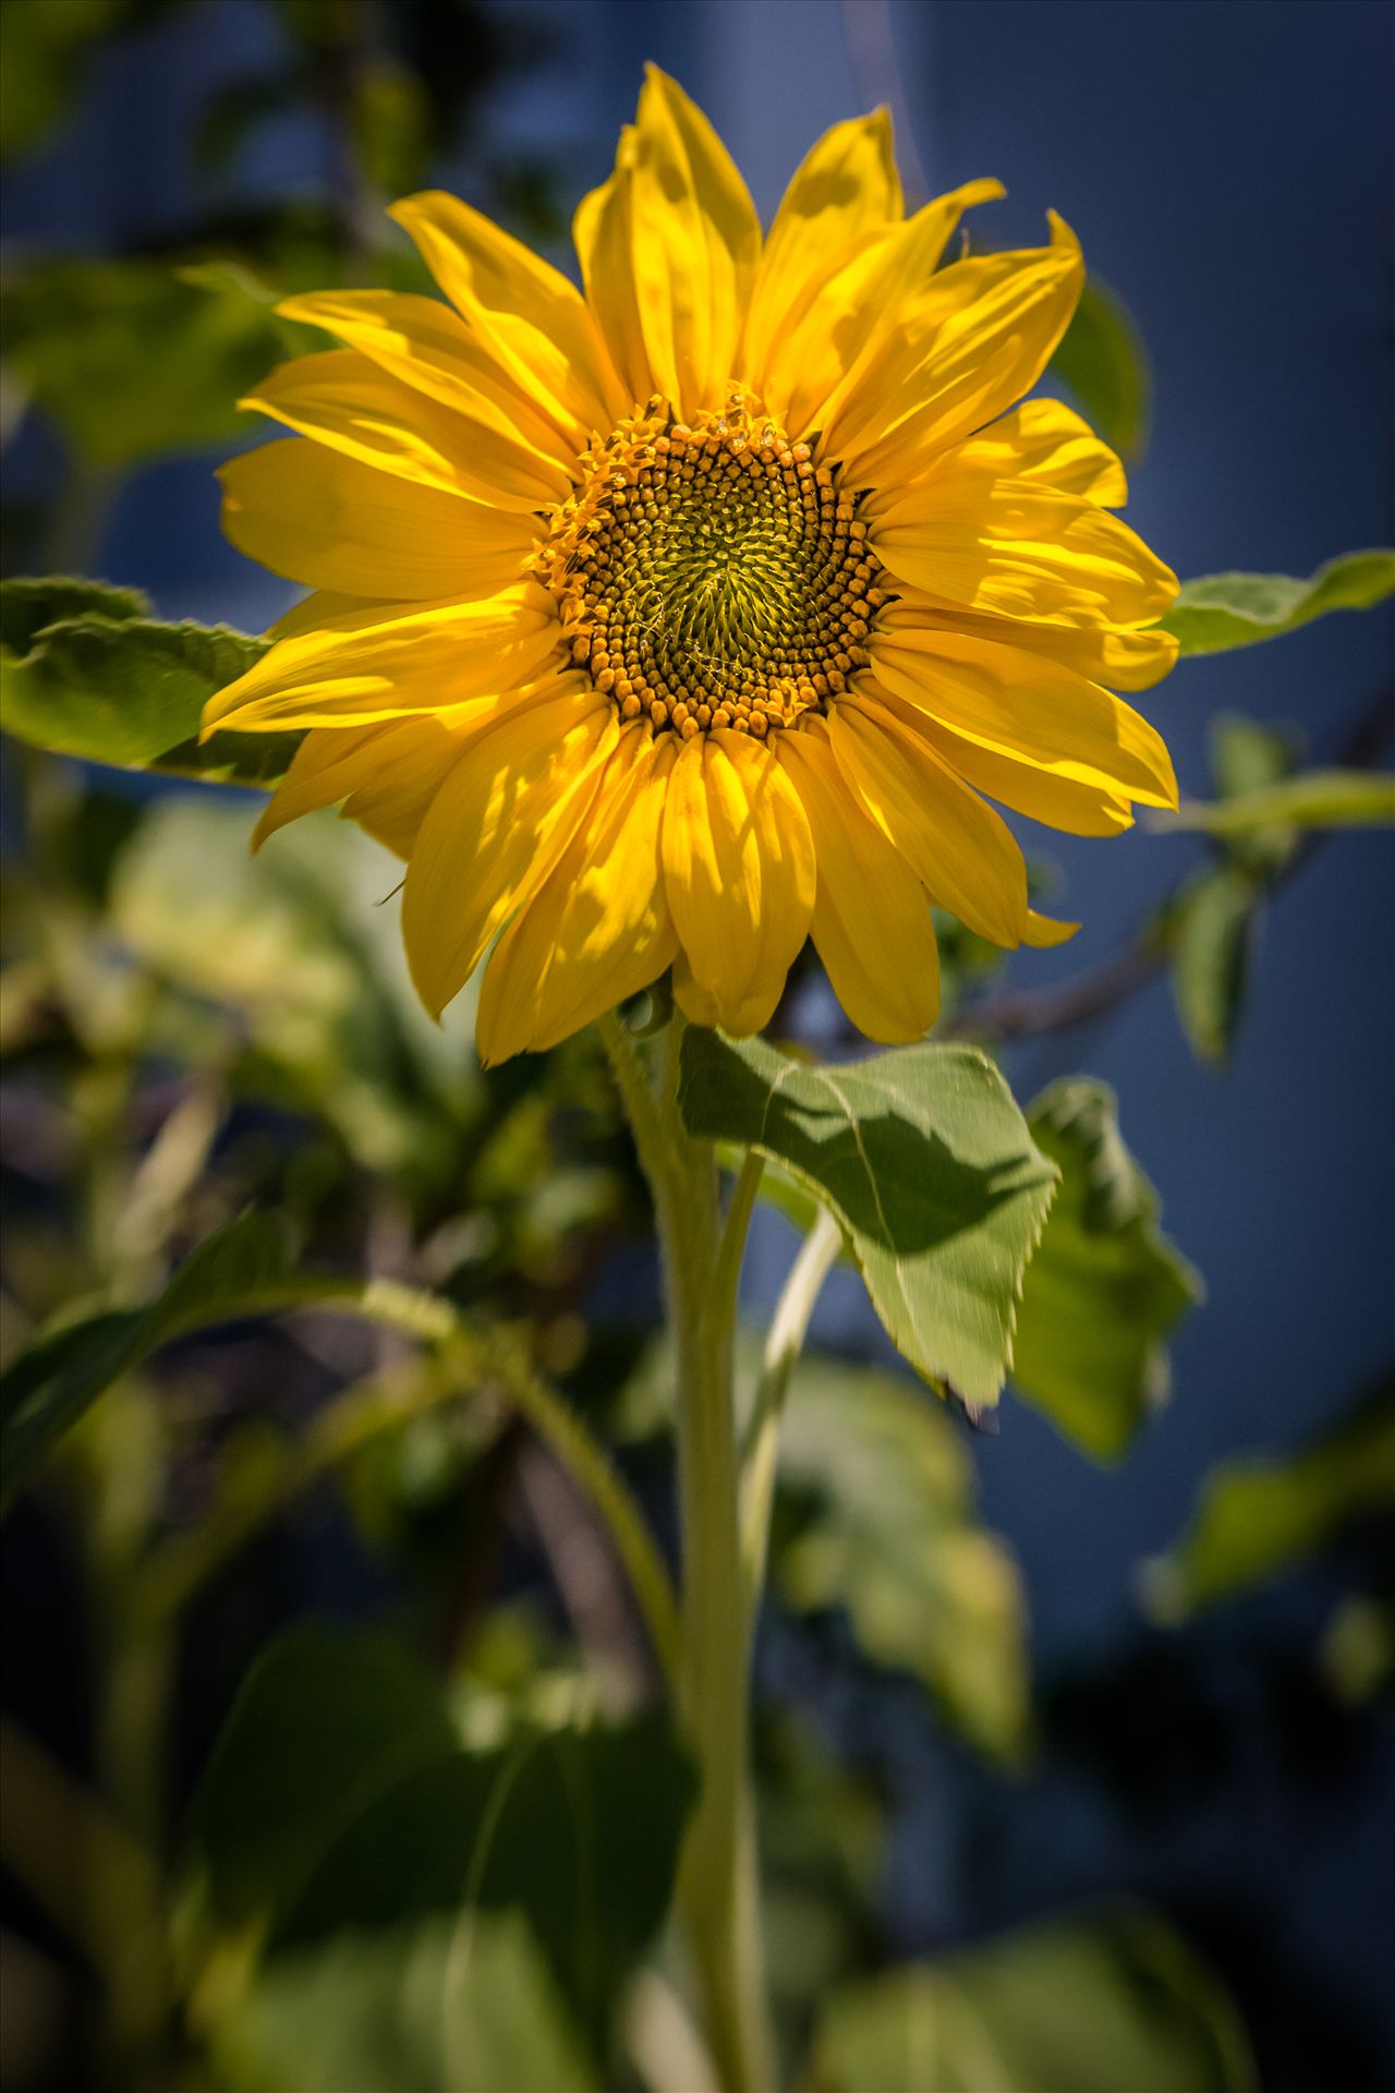
<instances>
[{"instance_id":1,"label":"thick upright green main stem holding up the sunflower","mask_svg":"<svg viewBox=\"0 0 1395 2093\"><path fill-rule=\"evenodd\" d=\"M749 1164L722 1229L717 1164L678 1111L682 1019L659 1040L657 1080L617 1017L602 1038L655 1195L663 1287L678 1367L682 1653L678 1712L696 1756L678 1909L701 1984L707 2039L726 2093L770 2093L749 1785L749 1658L734 1419L736 1281L759 1168Z\"/></svg>"}]
</instances>

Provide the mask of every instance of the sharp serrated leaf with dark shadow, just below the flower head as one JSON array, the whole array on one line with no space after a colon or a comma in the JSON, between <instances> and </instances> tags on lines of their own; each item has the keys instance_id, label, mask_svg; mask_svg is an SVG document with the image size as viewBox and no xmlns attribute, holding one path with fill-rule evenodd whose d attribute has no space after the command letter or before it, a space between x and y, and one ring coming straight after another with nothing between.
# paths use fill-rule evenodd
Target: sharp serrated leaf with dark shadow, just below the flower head
<instances>
[{"instance_id":1,"label":"sharp serrated leaf with dark shadow, just below the flower head","mask_svg":"<svg viewBox=\"0 0 1395 2093\"><path fill-rule=\"evenodd\" d=\"M998 1400L1056 1172L977 1049L826 1067L690 1026L678 1103L690 1132L757 1147L818 1191L918 1373Z\"/></svg>"}]
</instances>

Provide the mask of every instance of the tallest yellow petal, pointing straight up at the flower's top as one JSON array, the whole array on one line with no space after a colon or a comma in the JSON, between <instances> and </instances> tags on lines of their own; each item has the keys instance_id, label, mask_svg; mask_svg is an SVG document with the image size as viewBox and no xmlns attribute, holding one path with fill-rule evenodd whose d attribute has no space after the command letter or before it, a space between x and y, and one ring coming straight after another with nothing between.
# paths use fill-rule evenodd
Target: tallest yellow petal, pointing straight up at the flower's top
<instances>
[{"instance_id":1,"label":"tallest yellow petal, pointing straight up at the flower's top","mask_svg":"<svg viewBox=\"0 0 1395 2093\"><path fill-rule=\"evenodd\" d=\"M678 414L717 406L738 375L761 228L715 130L653 65L617 172L584 205L577 241L592 310L636 400L648 377Z\"/></svg>"}]
</instances>

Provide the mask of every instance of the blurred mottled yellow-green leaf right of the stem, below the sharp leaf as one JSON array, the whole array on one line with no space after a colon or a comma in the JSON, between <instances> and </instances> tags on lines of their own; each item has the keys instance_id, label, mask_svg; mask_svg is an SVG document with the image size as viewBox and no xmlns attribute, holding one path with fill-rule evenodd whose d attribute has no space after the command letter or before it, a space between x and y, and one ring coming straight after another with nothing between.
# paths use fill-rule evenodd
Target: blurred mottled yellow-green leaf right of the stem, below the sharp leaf
<instances>
[{"instance_id":1,"label":"blurred mottled yellow-green leaf right of the stem, below the sharp leaf","mask_svg":"<svg viewBox=\"0 0 1395 2093\"><path fill-rule=\"evenodd\" d=\"M845 1607L874 1664L912 1672L970 1743L1021 1762L1021 1580L975 1517L960 1430L914 1381L801 1358L780 1427L774 1578L799 1612Z\"/></svg>"}]
</instances>

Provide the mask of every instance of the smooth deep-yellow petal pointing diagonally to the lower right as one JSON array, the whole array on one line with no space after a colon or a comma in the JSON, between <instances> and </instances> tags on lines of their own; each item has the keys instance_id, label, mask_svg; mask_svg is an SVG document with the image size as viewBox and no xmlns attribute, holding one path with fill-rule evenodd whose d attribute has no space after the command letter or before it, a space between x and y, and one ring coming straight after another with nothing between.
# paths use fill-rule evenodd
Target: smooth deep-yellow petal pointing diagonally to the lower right
<instances>
[{"instance_id":1,"label":"smooth deep-yellow petal pointing diagonally to the lower right","mask_svg":"<svg viewBox=\"0 0 1395 2093\"><path fill-rule=\"evenodd\" d=\"M855 797L931 900L993 944L1021 944L1027 869L998 814L874 697L839 699L828 739Z\"/></svg>"}]
</instances>

